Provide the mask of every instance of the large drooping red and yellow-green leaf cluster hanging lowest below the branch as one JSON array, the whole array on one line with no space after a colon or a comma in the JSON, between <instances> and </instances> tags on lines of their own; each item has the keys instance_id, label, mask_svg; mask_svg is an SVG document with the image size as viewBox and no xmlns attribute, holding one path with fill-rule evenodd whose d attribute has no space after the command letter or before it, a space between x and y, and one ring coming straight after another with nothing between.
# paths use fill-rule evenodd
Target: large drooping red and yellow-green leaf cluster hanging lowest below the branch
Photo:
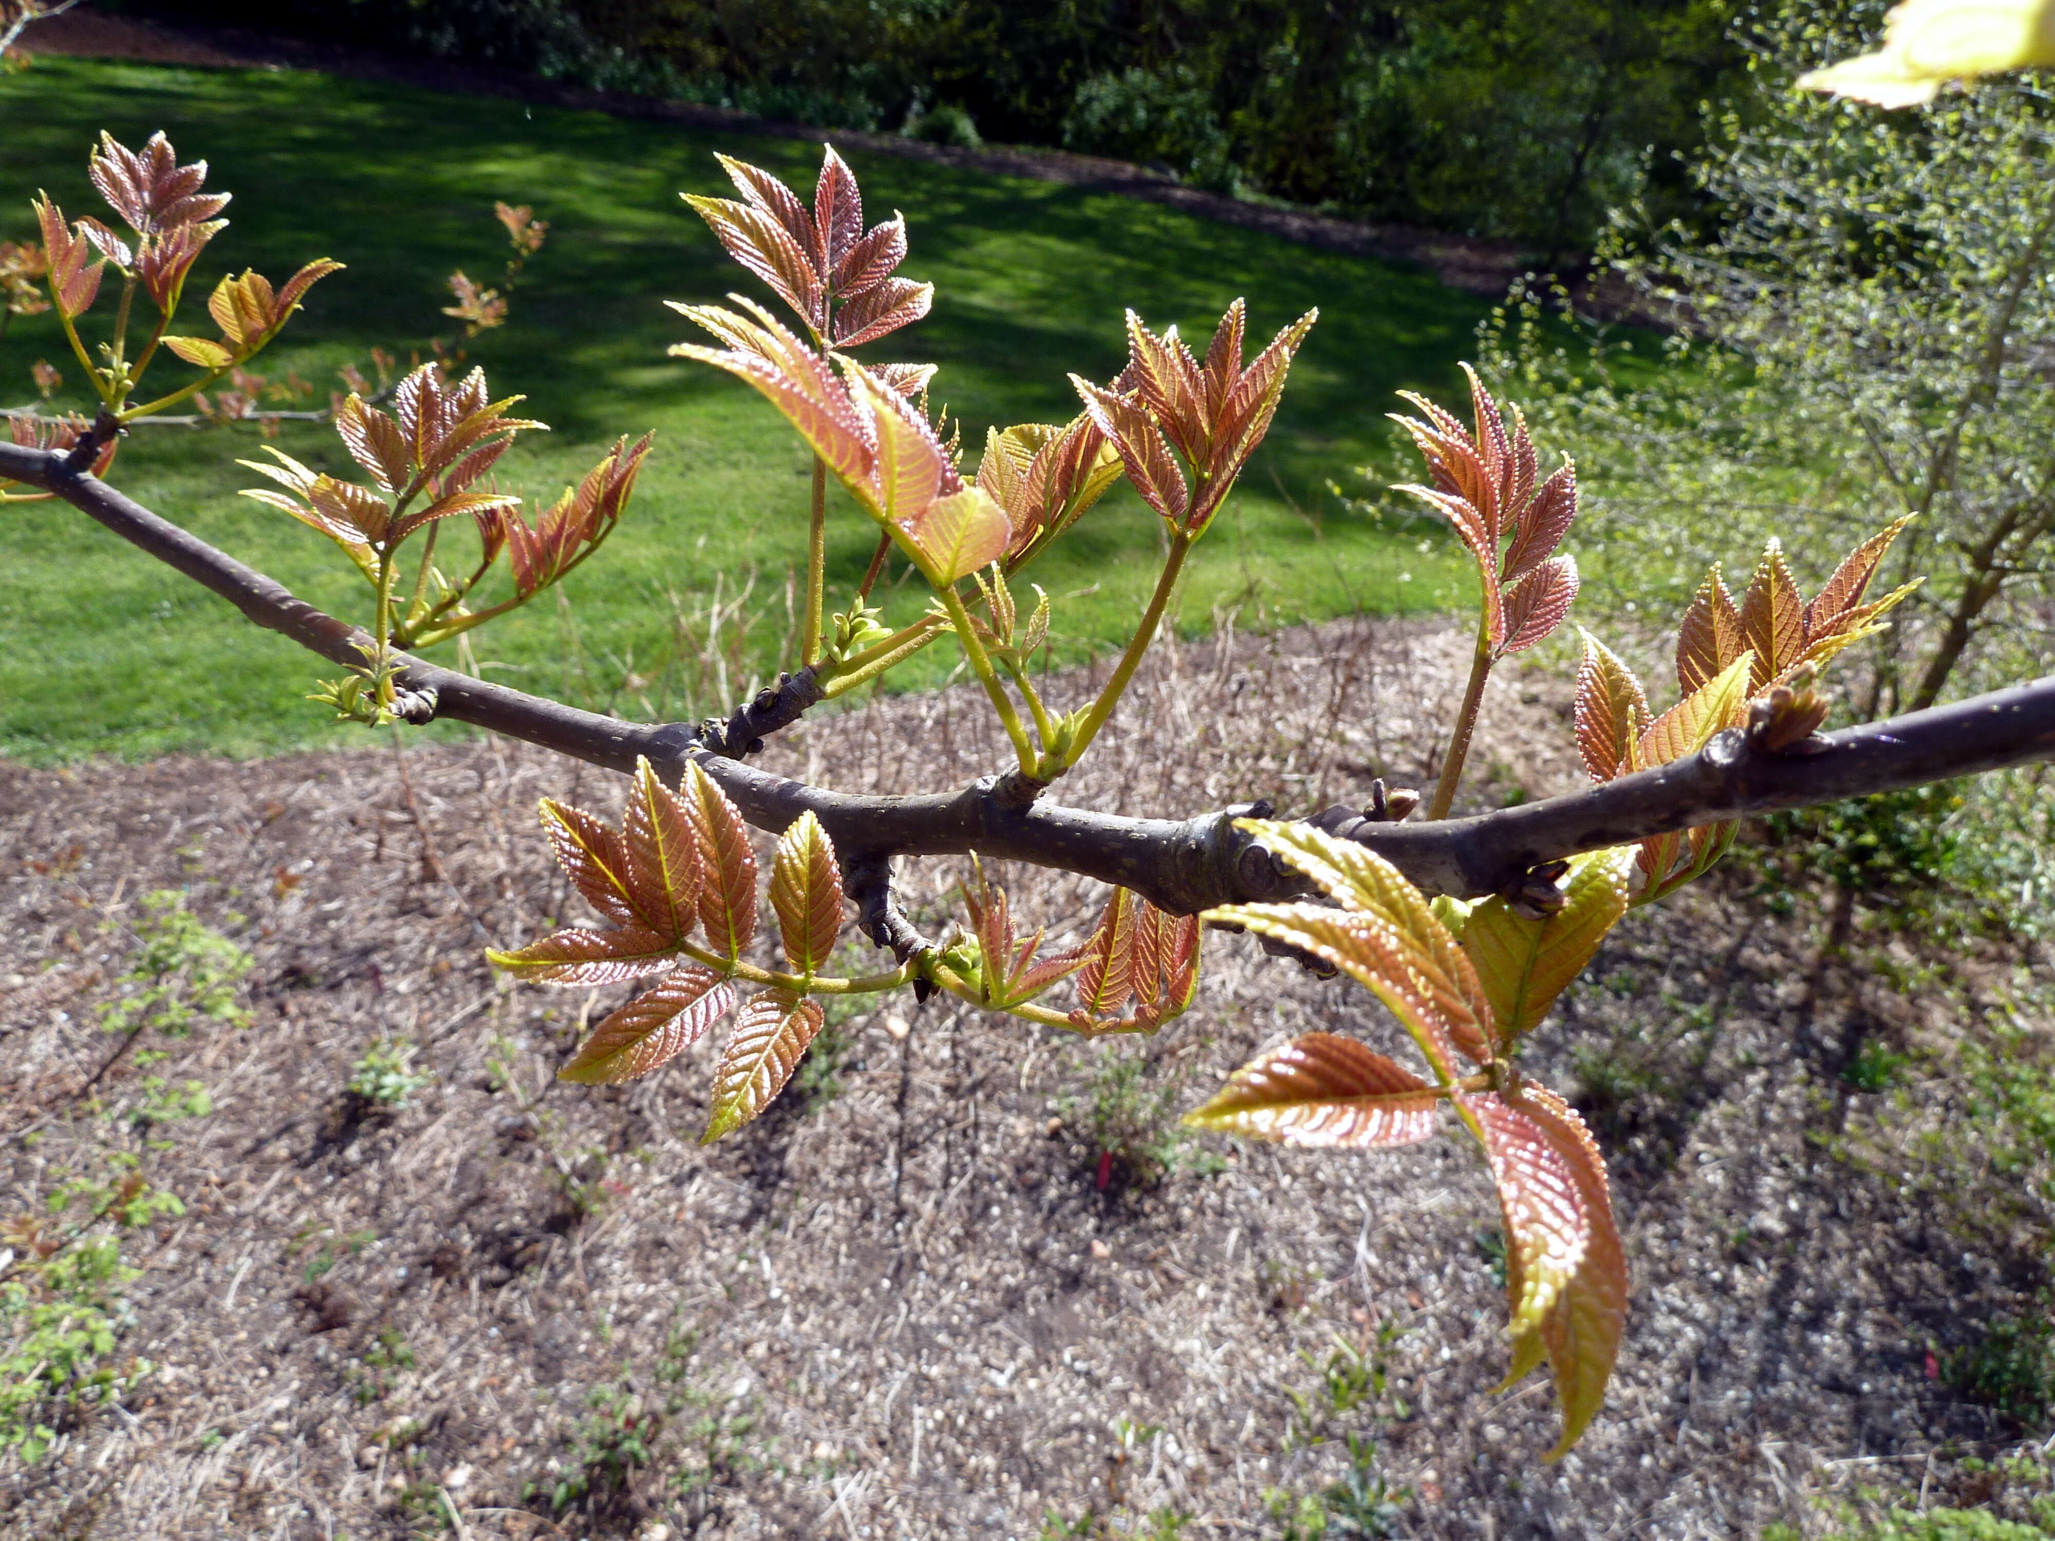
<instances>
[{"instance_id":1,"label":"large drooping red and yellow-green leaf cluster hanging lowest below the branch","mask_svg":"<svg viewBox=\"0 0 2055 1541\"><path fill-rule=\"evenodd\" d=\"M1330 904L1235 904L1204 918L1274 937L1369 986L1414 1040L1426 1075L1356 1040L1307 1033L1245 1064L1188 1122L1367 1149L1432 1138L1447 1103L1498 1188L1512 1340L1506 1385L1549 1360L1564 1416L1549 1459L1564 1455L1605 1399L1628 1268L1597 1144L1576 1112L1512 1058L1626 914L1630 853L1582 857L1562 906L1525 918L1506 900L1430 906L1381 857L1303 824L1245 820L1243 828Z\"/></svg>"}]
</instances>

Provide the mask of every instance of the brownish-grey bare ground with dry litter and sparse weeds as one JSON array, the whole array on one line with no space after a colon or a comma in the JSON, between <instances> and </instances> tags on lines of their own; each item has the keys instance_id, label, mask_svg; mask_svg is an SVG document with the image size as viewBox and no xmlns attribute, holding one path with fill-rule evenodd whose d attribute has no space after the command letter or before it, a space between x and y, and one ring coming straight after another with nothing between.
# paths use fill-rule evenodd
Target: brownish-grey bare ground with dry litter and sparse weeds
<instances>
[{"instance_id":1,"label":"brownish-grey bare ground with dry litter and sparse weeds","mask_svg":"<svg viewBox=\"0 0 2055 1541\"><path fill-rule=\"evenodd\" d=\"M1122 709L1134 734L1062 795L1309 810L1424 781L1463 651L1371 623L1169 649ZM1480 742L1486 801L1578 775L1543 668L1494 680ZM956 690L808 721L767 760L914 789L1001 750ZM43 1463L0 1461L0 1533L1038 1537L1171 1510L1188 1537L1278 1537L1266 1494L1340 1481L1356 1434L1402 1535L1728 1537L1817 1527L1810 1500L1856 1481L1981 1502L1956 1457L2018 1438L1932 1358L2047 1282L2047 1210L1975 1157L1948 1075L2016 999L2014 953L1926 955L1806 896L1778 918L1745 871L1615 931L1533 1070L1611 1153L1634 1309L1607 1410L1541 1467L1545 1377L1492 1395L1471 1151L1194 1140L1153 1171L1167 1112L1093 1120L1130 1060L1143 1103L1182 1110L1309 1027L1397 1040L1362 992L1215 935L1200 1005L1147 1042L894 999L816 1048L832 1075L701 1149L717 1044L557 1085L614 994L481 962L575 912L540 793L614 816L621 779L493 744L0 766L0 1214L109 1149L187 1204L125 1243L144 1274L115 1358L156 1368ZM929 923L958 875L910 863ZM1003 877L1058 933L1099 902ZM169 1058L82 1095L162 888L253 951L255 1021L152 1042ZM434 1073L399 1112L345 1091L382 1036ZM1841 1075L1864 1038L1913 1056L1897 1091ZM212 1116L132 1128L144 1075L203 1081ZM1389 1375L1348 1412L1321 1391L1338 1342Z\"/></svg>"}]
</instances>

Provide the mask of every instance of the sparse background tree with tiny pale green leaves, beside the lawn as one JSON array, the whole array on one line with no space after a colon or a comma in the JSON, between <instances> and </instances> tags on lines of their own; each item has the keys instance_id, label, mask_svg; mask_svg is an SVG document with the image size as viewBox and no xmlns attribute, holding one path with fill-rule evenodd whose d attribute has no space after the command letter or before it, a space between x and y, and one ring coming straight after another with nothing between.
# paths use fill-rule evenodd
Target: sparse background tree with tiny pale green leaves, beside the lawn
<instances>
[{"instance_id":1,"label":"sparse background tree with tiny pale green leaves, beside the lawn","mask_svg":"<svg viewBox=\"0 0 2055 1541\"><path fill-rule=\"evenodd\" d=\"M1570 362L1533 327L1498 370L1607 466L1603 534L1628 569L1685 581L1679 547L1712 561L1683 518L1706 497L1757 538L1915 516L1895 573L1930 581L1882 643L1870 705L1917 709L2055 657L2055 105L2032 80L1919 115L1786 88L1876 18L1802 4L1751 35L1759 109L1722 113L1693 166L1726 210L1710 240L1669 226L1634 257L1623 242L1644 236L1619 226L1619 269L1679 323L1675 370L1632 368L1603 331Z\"/></svg>"}]
</instances>

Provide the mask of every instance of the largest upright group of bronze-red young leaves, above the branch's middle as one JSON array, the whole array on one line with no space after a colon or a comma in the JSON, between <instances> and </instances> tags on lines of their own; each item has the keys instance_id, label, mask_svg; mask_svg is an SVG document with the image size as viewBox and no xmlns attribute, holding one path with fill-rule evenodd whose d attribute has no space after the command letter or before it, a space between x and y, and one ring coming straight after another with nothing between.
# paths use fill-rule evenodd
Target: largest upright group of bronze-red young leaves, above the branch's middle
<instances>
[{"instance_id":1,"label":"largest upright group of bronze-red young leaves, above the branch's middle","mask_svg":"<svg viewBox=\"0 0 2055 1541\"><path fill-rule=\"evenodd\" d=\"M762 392L816 458L814 518L801 657L824 694L863 684L939 635L954 635L1019 756L1019 775L1046 785L1091 744L1155 637L1190 544L1227 499L1276 413L1293 353L1313 325L1297 321L1243 366L1245 306L1229 306L1204 366L1175 329L1151 333L1128 316L1128 366L1110 386L1071 376L1085 411L1064 425L1017 423L986 434L976 479L958 468L956 436L927 411L935 374L925 364L867 366L847 349L919 321L933 286L892 277L906 257L902 218L863 230L863 203L849 166L826 150L808 208L767 171L721 158L742 201L688 197L719 240L783 300L806 337L746 296L730 306L674 308L719 347L678 343L670 351L725 370ZM1171 526L1173 542L1157 594L1143 612L1112 682L1091 707L1052 713L1023 657L1048 631L1046 600L1013 645L1007 575L1048 549L1126 475ZM880 526L877 555L849 610L826 625L826 479L834 477ZM898 551L935 592L937 606L888 633L867 608L871 586ZM988 575L986 575L986 569ZM958 592L972 577L984 618ZM1011 678L1011 692L1001 674ZM1034 723L1021 719L1013 697Z\"/></svg>"}]
</instances>

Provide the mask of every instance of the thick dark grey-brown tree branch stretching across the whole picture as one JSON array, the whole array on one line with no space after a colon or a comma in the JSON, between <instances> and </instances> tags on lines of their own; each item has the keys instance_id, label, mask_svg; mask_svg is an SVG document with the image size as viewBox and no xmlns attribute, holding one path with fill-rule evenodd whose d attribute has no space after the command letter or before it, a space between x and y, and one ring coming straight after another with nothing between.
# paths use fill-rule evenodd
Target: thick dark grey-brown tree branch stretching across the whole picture
<instances>
[{"instance_id":1,"label":"thick dark grey-brown tree branch stretching across the whole picture","mask_svg":"<svg viewBox=\"0 0 2055 1541\"><path fill-rule=\"evenodd\" d=\"M247 618L337 664L358 664L366 633L298 600L271 577L158 518L66 456L0 444L0 477L55 493L109 530L234 604ZM405 655L403 655L405 657ZM1056 867L1130 888L1190 914L1215 904L1303 892L1270 853L1233 828L1247 807L1188 820L1122 818L1007 797L1003 777L917 797L826 791L744 764L762 734L810 701L801 670L727 723L627 723L405 657L399 684L436 692L436 715L518 738L612 771L649 756L676 781L686 758L711 775L742 816L779 832L814 812L836 849L875 867L892 855L964 855ZM1745 734L1720 734L1699 754L1599 787L1432 824L1391 824L1350 807L1313 822L1391 861L1430 894L1498 894L1537 865L1650 834L1786 807L2055 758L2055 676L1946 707L1847 727L1771 754ZM884 896L877 920L884 920ZM904 937L902 937L904 941Z\"/></svg>"}]
</instances>

